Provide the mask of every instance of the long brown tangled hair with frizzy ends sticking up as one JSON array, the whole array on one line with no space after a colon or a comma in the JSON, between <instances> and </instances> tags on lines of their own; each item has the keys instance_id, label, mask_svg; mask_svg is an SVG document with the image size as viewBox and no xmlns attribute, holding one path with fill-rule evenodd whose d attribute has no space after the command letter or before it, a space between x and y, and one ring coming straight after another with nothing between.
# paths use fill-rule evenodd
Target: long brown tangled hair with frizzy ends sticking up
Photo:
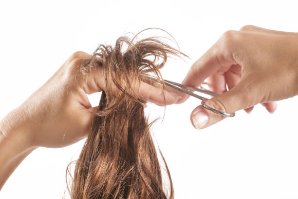
<instances>
[{"instance_id":1,"label":"long brown tangled hair with frizzy ends sticking up","mask_svg":"<svg viewBox=\"0 0 298 199\"><path fill-rule=\"evenodd\" d=\"M179 50L157 37L143 40L120 37L115 47L100 45L82 70L103 69L102 91L92 130L75 165L69 189L72 199L173 199L173 184L168 174L165 190L162 172L144 114L145 99L135 89L141 74L150 73L164 84L160 68L168 55ZM127 48L123 50L123 46ZM184 55L184 54L182 54ZM165 97L164 97L165 99Z\"/></svg>"}]
</instances>

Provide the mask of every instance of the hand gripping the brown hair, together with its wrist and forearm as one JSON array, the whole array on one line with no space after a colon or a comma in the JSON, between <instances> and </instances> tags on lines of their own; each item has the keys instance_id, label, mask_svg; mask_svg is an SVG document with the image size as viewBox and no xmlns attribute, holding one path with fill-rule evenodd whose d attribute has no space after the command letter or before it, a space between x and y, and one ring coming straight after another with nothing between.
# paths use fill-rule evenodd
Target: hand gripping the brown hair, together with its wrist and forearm
<instances>
[{"instance_id":1,"label":"hand gripping the brown hair, together with its wrist and forearm","mask_svg":"<svg viewBox=\"0 0 298 199\"><path fill-rule=\"evenodd\" d=\"M94 116L90 111L98 107L91 106L87 94L105 90L101 68L81 74L82 62L90 58L87 53L75 52L28 100L0 121L0 188L37 147L64 147L88 136ZM168 91L163 95L161 88L145 82L136 82L134 87L144 100L158 105L173 104L180 97Z\"/></svg>"}]
</instances>

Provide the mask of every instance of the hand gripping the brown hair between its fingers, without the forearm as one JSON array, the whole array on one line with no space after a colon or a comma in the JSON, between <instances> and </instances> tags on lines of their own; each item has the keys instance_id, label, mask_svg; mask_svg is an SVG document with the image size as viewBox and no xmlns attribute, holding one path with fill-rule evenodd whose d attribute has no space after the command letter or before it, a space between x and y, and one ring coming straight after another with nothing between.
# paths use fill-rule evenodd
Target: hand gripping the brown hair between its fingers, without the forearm
<instances>
[{"instance_id":1,"label":"hand gripping the brown hair between its fingers, without the forearm","mask_svg":"<svg viewBox=\"0 0 298 199\"><path fill-rule=\"evenodd\" d=\"M50 80L14 111L16 117L9 120L22 118L20 123L27 126L23 142L56 148L73 144L88 135L93 119L88 110L93 107L86 94L104 89L100 68L88 73L88 78L78 75L82 61L89 58L91 55L87 53L74 53ZM165 104L161 89L144 82L136 88L146 100ZM178 97L166 91L167 104L177 102Z\"/></svg>"}]
</instances>

